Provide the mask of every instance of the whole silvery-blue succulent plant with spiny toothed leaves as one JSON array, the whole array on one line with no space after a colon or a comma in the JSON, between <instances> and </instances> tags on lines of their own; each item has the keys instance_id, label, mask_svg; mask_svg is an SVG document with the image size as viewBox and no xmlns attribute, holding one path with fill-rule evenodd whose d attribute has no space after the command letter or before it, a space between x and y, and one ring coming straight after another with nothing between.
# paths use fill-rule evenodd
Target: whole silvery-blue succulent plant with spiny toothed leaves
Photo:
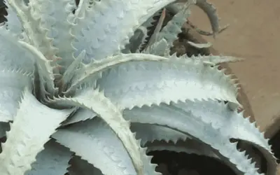
<instances>
[{"instance_id":1,"label":"whole silvery-blue succulent plant with spiny toothed leaves","mask_svg":"<svg viewBox=\"0 0 280 175\"><path fill-rule=\"evenodd\" d=\"M236 59L170 55L193 4L7 0L0 27L1 175L160 174L146 155L153 150L207 155L237 174L259 174L230 139L258 148L267 174L275 174L267 139L237 112L237 83L218 69ZM197 5L217 33L215 8L204 0ZM164 8L176 15L162 27Z\"/></svg>"}]
</instances>

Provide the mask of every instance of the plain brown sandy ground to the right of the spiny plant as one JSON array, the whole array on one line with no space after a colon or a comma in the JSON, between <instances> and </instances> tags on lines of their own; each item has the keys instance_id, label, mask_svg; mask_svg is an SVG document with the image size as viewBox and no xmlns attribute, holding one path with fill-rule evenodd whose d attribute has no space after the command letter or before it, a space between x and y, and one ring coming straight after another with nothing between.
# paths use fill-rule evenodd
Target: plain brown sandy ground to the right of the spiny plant
<instances>
[{"instance_id":1,"label":"plain brown sandy ground to the right of the spiny plant","mask_svg":"<svg viewBox=\"0 0 280 175\"><path fill-rule=\"evenodd\" d=\"M261 130L280 116L280 3L275 0L209 0L218 9L221 26L230 28L218 35L214 48L223 55L243 57L230 63L248 96ZM201 29L211 27L202 10L195 8L190 20ZM280 122L277 123L280 129ZM276 127L274 127L276 128ZM269 130L271 135L276 130Z\"/></svg>"}]
</instances>

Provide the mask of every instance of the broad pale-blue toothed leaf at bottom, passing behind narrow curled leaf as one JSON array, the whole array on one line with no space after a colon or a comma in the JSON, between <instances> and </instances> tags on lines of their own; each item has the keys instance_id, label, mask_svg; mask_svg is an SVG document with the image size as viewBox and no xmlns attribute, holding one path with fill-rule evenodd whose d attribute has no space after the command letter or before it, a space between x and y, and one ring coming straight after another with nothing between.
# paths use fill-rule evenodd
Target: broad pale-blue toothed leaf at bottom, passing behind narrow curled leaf
<instances>
[{"instance_id":1,"label":"broad pale-blue toothed leaf at bottom, passing behind narrow curled leaf","mask_svg":"<svg viewBox=\"0 0 280 175\"><path fill-rule=\"evenodd\" d=\"M123 143L116 137L101 118L93 118L83 123L76 123L52 135L60 144L67 146L76 155L99 168L103 174L139 174L135 171ZM75 139L76 141L72 141ZM155 165L146 156L146 149L140 148L144 174L156 174Z\"/></svg>"}]
</instances>

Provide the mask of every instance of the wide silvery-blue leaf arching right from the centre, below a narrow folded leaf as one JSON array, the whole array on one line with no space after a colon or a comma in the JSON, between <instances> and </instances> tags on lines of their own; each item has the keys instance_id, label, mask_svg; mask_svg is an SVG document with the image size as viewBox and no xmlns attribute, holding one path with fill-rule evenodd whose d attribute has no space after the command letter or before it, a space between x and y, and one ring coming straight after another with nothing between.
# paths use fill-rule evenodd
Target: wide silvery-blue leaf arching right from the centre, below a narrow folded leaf
<instances>
[{"instance_id":1,"label":"wide silvery-blue leaf arching right from the centre, below a narrow folded leaf","mask_svg":"<svg viewBox=\"0 0 280 175\"><path fill-rule=\"evenodd\" d=\"M230 77L218 66L173 55L165 62L114 66L102 73L97 85L121 109L186 99L218 99L238 104L237 85Z\"/></svg>"}]
</instances>

